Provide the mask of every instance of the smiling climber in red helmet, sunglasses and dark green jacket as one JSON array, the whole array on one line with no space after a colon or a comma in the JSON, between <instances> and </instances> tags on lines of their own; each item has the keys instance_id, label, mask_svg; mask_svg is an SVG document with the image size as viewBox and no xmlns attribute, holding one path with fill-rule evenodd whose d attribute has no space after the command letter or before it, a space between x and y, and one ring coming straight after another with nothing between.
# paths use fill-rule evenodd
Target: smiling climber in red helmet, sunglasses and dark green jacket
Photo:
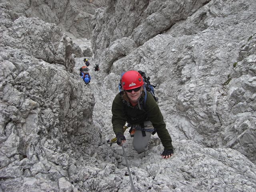
<instances>
[{"instance_id":1,"label":"smiling climber in red helmet, sunglasses and dark green jacket","mask_svg":"<svg viewBox=\"0 0 256 192\"><path fill-rule=\"evenodd\" d=\"M174 154L171 136L152 94L143 90L142 76L137 71L128 71L122 76L121 83L123 90L112 102L112 125L116 143L122 145L126 141L123 128L128 122L131 125L129 132L133 133L133 146L138 153L148 149L150 137L156 132L164 146L162 158L170 158Z\"/></svg>"}]
</instances>

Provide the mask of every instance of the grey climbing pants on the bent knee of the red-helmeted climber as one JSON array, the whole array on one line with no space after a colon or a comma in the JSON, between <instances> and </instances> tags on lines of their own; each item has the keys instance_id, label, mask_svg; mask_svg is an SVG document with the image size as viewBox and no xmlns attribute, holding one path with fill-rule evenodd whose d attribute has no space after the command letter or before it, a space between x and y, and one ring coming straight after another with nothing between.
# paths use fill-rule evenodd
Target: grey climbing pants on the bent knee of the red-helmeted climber
<instances>
[{"instance_id":1,"label":"grey climbing pants on the bent knee of the red-helmeted climber","mask_svg":"<svg viewBox=\"0 0 256 192\"><path fill-rule=\"evenodd\" d=\"M148 150L148 144L150 142L152 131L145 131L146 136L143 136L142 131L140 130L140 125L133 125L133 128L136 129L132 142L133 147L138 153L145 152ZM150 121L144 121L144 129L152 130L154 127Z\"/></svg>"}]
</instances>

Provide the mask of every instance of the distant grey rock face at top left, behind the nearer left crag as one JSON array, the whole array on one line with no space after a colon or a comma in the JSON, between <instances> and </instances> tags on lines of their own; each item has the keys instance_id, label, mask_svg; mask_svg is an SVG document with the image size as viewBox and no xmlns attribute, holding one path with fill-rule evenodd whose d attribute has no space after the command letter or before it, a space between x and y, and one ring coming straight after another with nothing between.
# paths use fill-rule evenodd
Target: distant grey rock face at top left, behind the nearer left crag
<instances>
[{"instance_id":1,"label":"distant grey rock face at top left, behind the nearer left crag","mask_svg":"<svg viewBox=\"0 0 256 192\"><path fill-rule=\"evenodd\" d=\"M92 16L95 9L105 6L107 0L71 1L16 1L1 0L19 16L40 18L55 23L77 38L90 39L92 35Z\"/></svg>"}]
</instances>

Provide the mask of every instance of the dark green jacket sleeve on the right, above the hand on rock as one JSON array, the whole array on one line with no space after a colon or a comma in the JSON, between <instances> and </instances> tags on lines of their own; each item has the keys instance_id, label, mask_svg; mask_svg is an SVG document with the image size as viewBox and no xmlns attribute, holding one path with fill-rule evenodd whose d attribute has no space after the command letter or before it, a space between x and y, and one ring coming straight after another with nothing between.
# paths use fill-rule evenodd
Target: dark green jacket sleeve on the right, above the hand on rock
<instances>
[{"instance_id":1,"label":"dark green jacket sleeve on the right, above the hand on rock","mask_svg":"<svg viewBox=\"0 0 256 192\"><path fill-rule=\"evenodd\" d=\"M166 124L164 122L163 115L160 111L160 108L153 96L147 92L147 100L146 100L146 112L148 114L148 119L152 122L154 128L156 129L156 133L160 138L164 149L173 149L172 146L172 138L166 129Z\"/></svg>"}]
</instances>

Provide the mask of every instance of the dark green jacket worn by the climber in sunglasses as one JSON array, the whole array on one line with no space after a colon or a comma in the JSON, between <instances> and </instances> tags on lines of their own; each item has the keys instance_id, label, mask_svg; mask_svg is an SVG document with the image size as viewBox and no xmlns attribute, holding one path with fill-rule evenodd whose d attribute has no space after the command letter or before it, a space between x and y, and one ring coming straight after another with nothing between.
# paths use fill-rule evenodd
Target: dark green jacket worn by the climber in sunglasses
<instances>
[{"instance_id":1,"label":"dark green jacket worn by the climber in sunglasses","mask_svg":"<svg viewBox=\"0 0 256 192\"><path fill-rule=\"evenodd\" d=\"M158 104L154 100L150 92L147 92L146 104L144 104L144 95L140 98L140 110L138 105L132 106L122 98L124 92L116 95L112 103L112 125L114 133L118 132L124 134L124 125L126 122L130 124L141 124L146 120L152 122L156 133L160 138L164 149L173 149L172 138L166 129L166 124Z\"/></svg>"}]
</instances>

